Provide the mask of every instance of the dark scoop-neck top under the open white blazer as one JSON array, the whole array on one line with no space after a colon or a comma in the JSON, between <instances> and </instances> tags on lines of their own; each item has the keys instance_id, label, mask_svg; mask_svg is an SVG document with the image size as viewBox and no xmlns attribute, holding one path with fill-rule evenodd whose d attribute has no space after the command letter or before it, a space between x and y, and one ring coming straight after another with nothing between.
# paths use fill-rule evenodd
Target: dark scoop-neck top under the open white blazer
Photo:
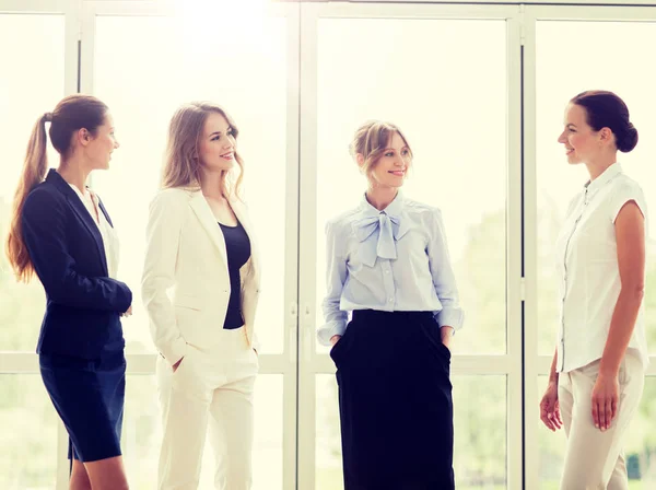
<instances>
[{"instance_id":1,"label":"dark scoop-neck top under the open white blazer","mask_svg":"<svg viewBox=\"0 0 656 490\"><path fill-rule=\"evenodd\" d=\"M244 325L242 315L242 278L239 269L250 258L250 241L242 223L237 221L236 226L226 226L219 223L223 237L225 238L225 250L227 254L227 272L230 275L230 301L223 328L239 328Z\"/></svg>"}]
</instances>

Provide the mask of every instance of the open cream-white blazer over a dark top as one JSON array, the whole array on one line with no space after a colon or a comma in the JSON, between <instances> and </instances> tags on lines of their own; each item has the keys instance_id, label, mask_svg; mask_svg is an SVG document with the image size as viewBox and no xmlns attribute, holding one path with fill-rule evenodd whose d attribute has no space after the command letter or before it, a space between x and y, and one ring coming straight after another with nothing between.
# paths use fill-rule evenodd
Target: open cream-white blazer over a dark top
<instances>
[{"instance_id":1,"label":"open cream-white blazer over a dark top","mask_svg":"<svg viewBox=\"0 0 656 490\"><path fill-rule=\"evenodd\" d=\"M242 314L250 346L258 350L255 311L259 261L246 207L230 205L250 240L250 258L241 269ZM200 190L161 190L150 205L141 296L151 336L171 363L191 345L212 348L220 339L231 287L225 240Z\"/></svg>"}]
</instances>

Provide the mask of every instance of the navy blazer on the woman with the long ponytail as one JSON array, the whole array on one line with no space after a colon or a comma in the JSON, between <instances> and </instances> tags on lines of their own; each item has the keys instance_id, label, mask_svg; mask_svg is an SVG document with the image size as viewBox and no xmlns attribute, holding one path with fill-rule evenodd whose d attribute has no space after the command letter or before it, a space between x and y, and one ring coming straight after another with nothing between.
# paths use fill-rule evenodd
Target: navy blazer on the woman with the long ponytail
<instances>
[{"instance_id":1,"label":"navy blazer on the woman with the long ponytail","mask_svg":"<svg viewBox=\"0 0 656 490\"><path fill-rule=\"evenodd\" d=\"M54 170L27 196L22 233L47 298L36 351L97 359L109 342L122 341L120 314L132 304L132 292L108 277L97 225Z\"/></svg>"}]
</instances>

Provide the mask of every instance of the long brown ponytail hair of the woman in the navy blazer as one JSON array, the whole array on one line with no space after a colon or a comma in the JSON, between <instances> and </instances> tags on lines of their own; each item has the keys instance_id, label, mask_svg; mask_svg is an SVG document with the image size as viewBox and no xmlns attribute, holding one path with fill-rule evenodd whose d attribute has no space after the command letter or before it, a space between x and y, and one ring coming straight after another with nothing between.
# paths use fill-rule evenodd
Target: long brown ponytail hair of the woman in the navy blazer
<instances>
[{"instance_id":1,"label":"long brown ponytail hair of the woman in the navy blazer","mask_svg":"<svg viewBox=\"0 0 656 490\"><path fill-rule=\"evenodd\" d=\"M5 252L16 278L27 282L34 272L32 260L23 242L21 232L21 214L27 195L46 176L48 159L46 153L46 122L50 122L50 141L57 152L65 156L71 147L72 136L84 128L92 136L105 122L107 106L90 95L70 95L57 104L52 113L40 116L32 129L27 143L27 153L23 163L21 179L14 194L11 225L7 238Z\"/></svg>"}]
</instances>

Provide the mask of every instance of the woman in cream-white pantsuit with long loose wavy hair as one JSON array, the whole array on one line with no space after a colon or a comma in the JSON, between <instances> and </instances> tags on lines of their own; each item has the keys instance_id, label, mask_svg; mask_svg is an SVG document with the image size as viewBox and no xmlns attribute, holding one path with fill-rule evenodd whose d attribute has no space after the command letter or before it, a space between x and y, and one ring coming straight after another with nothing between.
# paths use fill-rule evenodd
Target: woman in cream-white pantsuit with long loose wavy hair
<instances>
[{"instance_id":1,"label":"woman in cream-white pantsuit with long loose wavy hair","mask_svg":"<svg viewBox=\"0 0 656 490\"><path fill-rule=\"evenodd\" d=\"M161 190L150 207L142 298L160 351L161 490L198 488L208 432L216 489L251 485L254 319L259 267L237 128L210 103L173 116ZM233 185L234 184L234 185Z\"/></svg>"}]
</instances>

